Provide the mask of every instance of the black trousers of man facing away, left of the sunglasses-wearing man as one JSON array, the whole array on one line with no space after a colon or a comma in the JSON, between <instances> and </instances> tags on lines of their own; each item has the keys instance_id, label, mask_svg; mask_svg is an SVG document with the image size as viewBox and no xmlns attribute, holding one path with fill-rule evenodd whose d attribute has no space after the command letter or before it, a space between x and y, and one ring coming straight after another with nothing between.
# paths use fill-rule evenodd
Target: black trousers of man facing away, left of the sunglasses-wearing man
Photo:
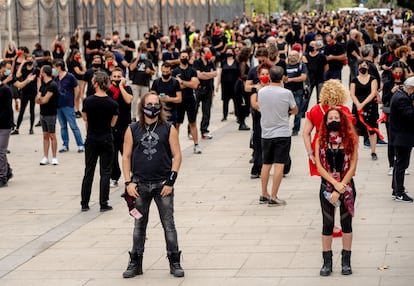
<instances>
[{"instance_id":1,"label":"black trousers of man facing away, left of the sunglasses-wearing man","mask_svg":"<svg viewBox=\"0 0 414 286\"><path fill-rule=\"evenodd\" d=\"M87 206L91 197L92 182L95 173L96 163L99 158L99 204L108 205L109 180L112 172L112 160L114 156L114 144L112 138L100 142L85 142L85 175L82 181L81 205Z\"/></svg>"}]
</instances>

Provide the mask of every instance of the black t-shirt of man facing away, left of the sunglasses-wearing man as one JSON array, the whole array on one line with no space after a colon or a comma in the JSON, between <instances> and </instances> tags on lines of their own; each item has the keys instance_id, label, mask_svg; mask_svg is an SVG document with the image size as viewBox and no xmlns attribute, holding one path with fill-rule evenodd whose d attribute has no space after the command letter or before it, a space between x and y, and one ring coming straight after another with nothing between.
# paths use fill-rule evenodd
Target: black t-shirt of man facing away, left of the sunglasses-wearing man
<instances>
[{"instance_id":1,"label":"black t-shirt of man facing away, left of the sunglasses-wearing man","mask_svg":"<svg viewBox=\"0 0 414 286\"><path fill-rule=\"evenodd\" d=\"M115 100L109 96L89 96L83 101L82 112L86 113L88 121L87 141L112 140L112 117L119 114Z\"/></svg>"}]
</instances>

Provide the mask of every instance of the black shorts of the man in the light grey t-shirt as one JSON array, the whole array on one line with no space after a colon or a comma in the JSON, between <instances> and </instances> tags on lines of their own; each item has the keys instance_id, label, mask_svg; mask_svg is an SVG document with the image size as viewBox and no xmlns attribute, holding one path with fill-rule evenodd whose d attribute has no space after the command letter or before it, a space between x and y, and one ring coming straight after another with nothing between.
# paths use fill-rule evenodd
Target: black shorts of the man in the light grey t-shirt
<instances>
[{"instance_id":1,"label":"black shorts of the man in the light grey t-shirt","mask_svg":"<svg viewBox=\"0 0 414 286\"><path fill-rule=\"evenodd\" d=\"M290 137L262 138L263 164L288 163L290 144Z\"/></svg>"}]
</instances>

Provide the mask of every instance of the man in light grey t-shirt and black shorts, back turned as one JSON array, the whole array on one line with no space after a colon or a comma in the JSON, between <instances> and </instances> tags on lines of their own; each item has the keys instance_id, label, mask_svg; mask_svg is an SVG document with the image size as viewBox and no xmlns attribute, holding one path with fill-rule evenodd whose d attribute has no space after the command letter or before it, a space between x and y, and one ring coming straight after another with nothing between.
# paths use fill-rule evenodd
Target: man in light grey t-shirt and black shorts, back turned
<instances>
[{"instance_id":1,"label":"man in light grey t-shirt and black shorts, back turned","mask_svg":"<svg viewBox=\"0 0 414 286\"><path fill-rule=\"evenodd\" d=\"M291 134L289 115L297 114L295 98L290 90L283 88L283 69L274 66L270 69L271 83L258 92L258 104L261 112L263 166L260 174L262 195L260 203L269 207L285 205L286 201L277 197L283 177L285 163L289 160ZM272 192L269 195L267 185L270 169L274 165Z\"/></svg>"}]
</instances>

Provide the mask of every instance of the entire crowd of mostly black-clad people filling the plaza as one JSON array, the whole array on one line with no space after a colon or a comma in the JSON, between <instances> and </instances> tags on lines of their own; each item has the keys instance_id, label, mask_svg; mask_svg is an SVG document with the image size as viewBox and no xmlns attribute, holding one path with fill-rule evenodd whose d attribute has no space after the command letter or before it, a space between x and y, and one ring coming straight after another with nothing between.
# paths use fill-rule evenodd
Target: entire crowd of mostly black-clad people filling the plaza
<instances>
[{"instance_id":1,"label":"entire crowd of mostly black-clad people filling the plaza","mask_svg":"<svg viewBox=\"0 0 414 286\"><path fill-rule=\"evenodd\" d=\"M185 22L183 32L179 25L171 25L166 35L154 25L140 41L124 36L121 40L114 31L104 38L98 32L92 38L87 31L82 37L73 35L69 47L63 38L56 37L50 50L37 43L32 52L9 43L0 63L0 186L7 186L12 177L6 155L9 136L22 132L27 105L29 134L34 134L37 103L44 151L40 165L58 165L57 153L69 152L67 125L77 151L85 153L82 211L89 210L98 158L102 212L112 209L109 189L117 187L124 176L125 197L136 218L125 278L142 274L142 238L152 199L165 230L170 272L184 276L172 215L173 185L181 163L177 135L187 115L186 132L194 143L194 154L202 153L200 139L213 139L210 111L217 93L221 93L223 122L232 114L230 101L241 132L250 130L247 120L252 115L250 175L261 179L261 204L286 204L278 197L279 186L291 164L291 136L302 133L310 174L321 176L324 265L320 275L332 272L332 232L335 205L339 204L342 274L352 274L356 197L352 177L358 160L358 136L364 137L371 159L377 160L376 145L387 144L379 130L381 122L388 135L393 198L413 202L404 187L414 146L410 128L414 120L411 11L386 15L283 13L277 19L243 15L231 22L207 23L203 29L193 21ZM344 87L348 80L342 78L346 65L350 70L349 94ZM317 104L309 107L313 94ZM352 100L352 111L345 106L348 99ZM19 113L16 123L13 108ZM290 116L294 116L292 128ZM77 118L86 123L85 141ZM61 128L60 149L56 119ZM316 135L312 139L313 129Z\"/></svg>"}]
</instances>

